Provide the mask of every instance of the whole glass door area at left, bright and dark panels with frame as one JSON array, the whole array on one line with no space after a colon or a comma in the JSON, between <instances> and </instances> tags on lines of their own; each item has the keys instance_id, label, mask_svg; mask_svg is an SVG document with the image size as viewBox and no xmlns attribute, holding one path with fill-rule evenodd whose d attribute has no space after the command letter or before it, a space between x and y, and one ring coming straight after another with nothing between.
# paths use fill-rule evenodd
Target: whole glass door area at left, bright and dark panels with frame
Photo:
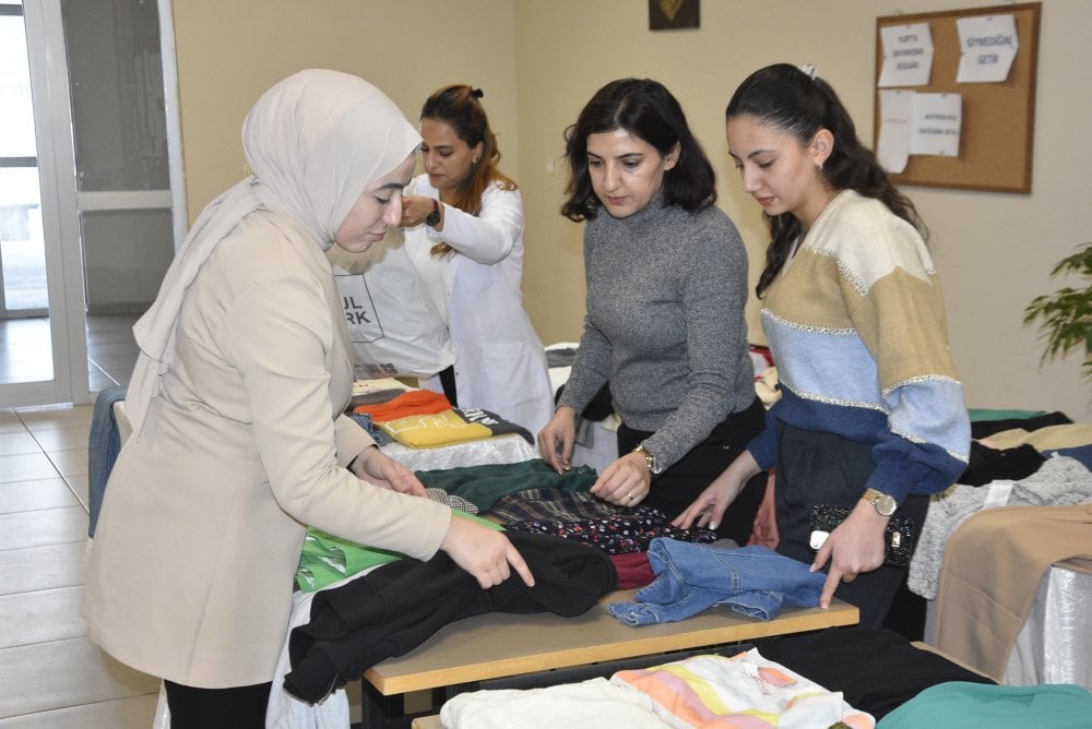
<instances>
[{"instance_id":1,"label":"whole glass door area at left, bright and dark panels with frame","mask_svg":"<svg viewBox=\"0 0 1092 729\"><path fill-rule=\"evenodd\" d=\"M0 0L0 407L112 384L88 321L155 298L185 235L178 138L169 0Z\"/></svg>"}]
</instances>

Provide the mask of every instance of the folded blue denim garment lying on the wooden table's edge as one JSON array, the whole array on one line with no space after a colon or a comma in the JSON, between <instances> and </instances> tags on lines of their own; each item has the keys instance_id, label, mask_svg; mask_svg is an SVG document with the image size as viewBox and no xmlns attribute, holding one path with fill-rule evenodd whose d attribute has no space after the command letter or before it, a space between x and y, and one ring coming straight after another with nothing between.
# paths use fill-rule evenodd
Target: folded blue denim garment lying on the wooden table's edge
<instances>
[{"instance_id":1,"label":"folded blue denim garment lying on the wooden table's edge","mask_svg":"<svg viewBox=\"0 0 1092 729\"><path fill-rule=\"evenodd\" d=\"M636 602L614 602L610 614L629 625L686 620L714 605L726 605L759 620L782 607L814 608L826 575L808 564L760 546L727 549L675 539L653 539L649 564L655 581Z\"/></svg>"}]
</instances>

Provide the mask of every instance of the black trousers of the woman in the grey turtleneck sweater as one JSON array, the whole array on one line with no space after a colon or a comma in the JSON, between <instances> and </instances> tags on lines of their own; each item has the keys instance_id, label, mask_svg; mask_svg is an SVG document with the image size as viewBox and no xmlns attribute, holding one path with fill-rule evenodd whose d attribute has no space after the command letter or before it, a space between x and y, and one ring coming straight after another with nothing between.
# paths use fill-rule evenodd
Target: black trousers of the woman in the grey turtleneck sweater
<instances>
[{"instance_id":1,"label":"black trousers of the woman in the grey turtleneck sweater","mask_svg":"<svg viewBox=\"0 0 1092 729\"><path fill-rule=\"evenodd\" d=\"M654 477L652 491L641 505L658 509L672 518L681 514L744 452L764 426L765 408L756 397L747 409L731 414L713 429L709 438L693 446L670 468ZM651 432L634 430L622 423L618 427L619 455L629 453L651 435ZM767 474L759 474L747 482L739 497L724 513L716 529L719 535L734 539L740 546L747 543L755 527L755 515L765 494L765 482Z\"/></svg>"}]
</instances>

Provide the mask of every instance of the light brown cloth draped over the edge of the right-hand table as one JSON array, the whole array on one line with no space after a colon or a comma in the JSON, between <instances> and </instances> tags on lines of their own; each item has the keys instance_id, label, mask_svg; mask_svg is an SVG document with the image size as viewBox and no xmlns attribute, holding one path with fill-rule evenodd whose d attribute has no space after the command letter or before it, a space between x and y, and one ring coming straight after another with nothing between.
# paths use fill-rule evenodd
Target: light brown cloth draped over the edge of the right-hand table
<instances>
[{"instance_id":1,"label":"light brown cloth draped over the edge of the right-hand table","mask_svg":"<svg viewBox=\"0 0 1092 729\"><path fill-rule=\"evenodd\" d=\"M1092 573L1092 505L1000 506L969 517L945 553L937 647L1001 681L1055 563Z\"/></svg>"}]
</instances>

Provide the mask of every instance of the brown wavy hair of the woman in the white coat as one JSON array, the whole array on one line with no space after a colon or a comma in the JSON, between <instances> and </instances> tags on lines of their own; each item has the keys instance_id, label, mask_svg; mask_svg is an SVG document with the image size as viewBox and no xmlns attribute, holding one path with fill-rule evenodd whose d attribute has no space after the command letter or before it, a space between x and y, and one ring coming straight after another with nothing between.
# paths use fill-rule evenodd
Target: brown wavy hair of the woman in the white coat
<instances>
[{"instance_id":1,"label":"brown wavy hair of the woman in the white coat","mask_svg":"<svg viewBox=\"0 0 1092 729\"><path fill-rule=\"evenodd\" d=\"M420 107L422 119L442 121L470 147L482 144L482 157L454 191L452 203L452 206L471 215L482 213L482 194L490 184L497 184L503 190L515 189L515 181L497 169L500 150L497 148L497 136L489 128L489 118L482 106L480 98L484 95L480 88L453 84L434 92ZM431 254L444 255L452 250L447 243L437 243L432 247Z\"/></svg>"}]
</instances>

